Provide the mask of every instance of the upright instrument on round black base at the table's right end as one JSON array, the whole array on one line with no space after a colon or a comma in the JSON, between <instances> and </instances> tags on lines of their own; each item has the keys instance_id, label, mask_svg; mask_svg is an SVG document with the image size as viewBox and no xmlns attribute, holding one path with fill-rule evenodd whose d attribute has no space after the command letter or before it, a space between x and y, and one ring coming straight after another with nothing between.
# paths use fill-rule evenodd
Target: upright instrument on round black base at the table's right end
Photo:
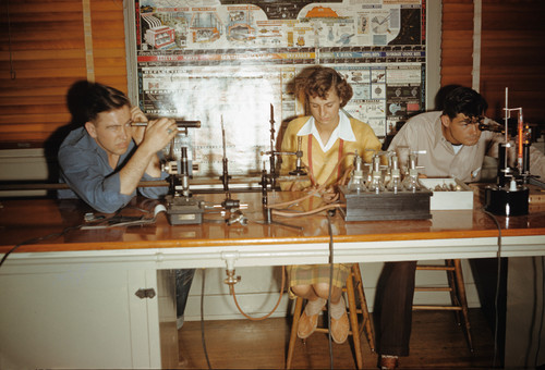
<instances>
[{"instance_id":1,"label":"upright instrument on round black base at the table's right end","mask_svg":"<svg viewBox=\"0 0 545 370\"><path fill-rule=\"evenodd\" d=\"M530 127L524 125L522 108L508 108L508 88L506 88L505 140L498 147L498 172L495 185L485 188L485 209L498 215L528 214L530 189L526 186L530 175ZM508 122L511 112L518 114L517 143L509 139ZM481 127L482 130L485 127ZM514 148L513 148L514 146ZM509 166L509 153L516 152L514 168Z\"/></svg>"}]
</instances>

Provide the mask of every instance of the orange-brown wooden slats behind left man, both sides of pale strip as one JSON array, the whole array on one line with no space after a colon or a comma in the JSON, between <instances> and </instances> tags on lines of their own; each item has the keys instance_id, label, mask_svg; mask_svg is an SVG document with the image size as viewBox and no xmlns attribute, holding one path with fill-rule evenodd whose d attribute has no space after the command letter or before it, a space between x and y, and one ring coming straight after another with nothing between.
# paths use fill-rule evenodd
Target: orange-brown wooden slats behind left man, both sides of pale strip
<instances>
[{"instance_id":1,"label":"orange-brown wooden slats behind left man, both sides of pale strip","mask_svg":"<svg viewBox=\"0 0 545 370\"><path fill-rule=\"evenodd\" d=\"M126 91L123 1L89 4L95 79ZM82 1L7 0L1 8L0 148L43 147L70 122L66 92L87 76Z\"/></svg>"}]
</instances>

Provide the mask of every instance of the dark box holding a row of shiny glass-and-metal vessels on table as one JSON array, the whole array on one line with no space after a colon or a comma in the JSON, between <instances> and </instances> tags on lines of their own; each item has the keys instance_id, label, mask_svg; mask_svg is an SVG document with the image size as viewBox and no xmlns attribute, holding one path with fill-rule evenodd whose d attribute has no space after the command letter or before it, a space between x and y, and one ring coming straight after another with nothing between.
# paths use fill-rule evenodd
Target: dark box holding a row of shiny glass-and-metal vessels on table
<instances>
[{"instance_id":1,"label":"dark box holding a row of shiny glass-and-metal vessels on table","mask_svg":"<svg viewBox=\"0 0 545 370\"><path fill-rule=\"evenodd\" d=\"M395 152L378 151L372 163L363 163L355 152L352 176L348 185L340 186L346 209L346 221L425 220L431 219L432 192L419 181L417 156L425 151L411 151L408 163L400 163ZM388 164L382 164L386 157ZM364 165L370 165L364 171Z\"/></svg>"}]
</instances>

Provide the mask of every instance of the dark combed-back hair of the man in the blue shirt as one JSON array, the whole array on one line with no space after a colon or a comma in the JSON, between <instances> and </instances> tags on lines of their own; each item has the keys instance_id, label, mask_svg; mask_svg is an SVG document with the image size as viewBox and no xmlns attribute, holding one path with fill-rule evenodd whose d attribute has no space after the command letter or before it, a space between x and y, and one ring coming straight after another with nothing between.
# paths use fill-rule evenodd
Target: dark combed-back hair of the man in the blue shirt
<instances>
[{"instance_id":1,"label":"dark combed-back hair of the man in the blue shirt","mask_svg":"<svg viewBox=\"0 0 545 370\"><path fill-rule=\"evenodd\" d=\"M68 104L72 121L94 122L99 113L131 106L124 92L99 83L80 81L69 91Z\"/></svg>"}]
</instances>

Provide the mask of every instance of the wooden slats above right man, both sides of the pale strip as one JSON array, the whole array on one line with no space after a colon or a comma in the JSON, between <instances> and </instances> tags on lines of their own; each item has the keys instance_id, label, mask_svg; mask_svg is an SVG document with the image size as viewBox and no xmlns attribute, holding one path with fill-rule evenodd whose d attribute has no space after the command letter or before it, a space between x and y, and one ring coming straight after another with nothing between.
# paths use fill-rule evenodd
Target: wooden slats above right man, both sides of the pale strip
<instances>
[{"instance_id":1,"label":"wooden slats above right man, both sides of the pale strip","mask_svg":"<svg viewBox=\"0 0 545 370\"><path fill-rule=\"evenodd\" d=\"M472 0L443 0L441 86L471 86L473 9ZM522 107L526 122L545 127L544 14L545 1L482 0L480 92L488 116L504 116L509 87L509 107Z\"/></svg>"}]
</instances>

